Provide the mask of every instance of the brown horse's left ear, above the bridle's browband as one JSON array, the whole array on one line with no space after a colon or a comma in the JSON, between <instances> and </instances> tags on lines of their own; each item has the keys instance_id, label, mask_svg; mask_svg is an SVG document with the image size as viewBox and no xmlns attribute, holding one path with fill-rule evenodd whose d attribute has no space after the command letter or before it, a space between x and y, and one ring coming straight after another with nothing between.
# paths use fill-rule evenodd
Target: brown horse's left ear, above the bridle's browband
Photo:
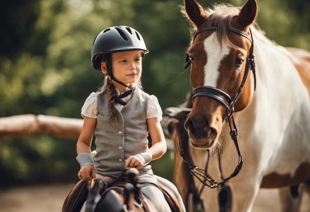
<instances>
[{"instance_id":1,"label":"brown horse's left ear, above the bridle's browband","mask_svg":"<svg viewBox=\"0 0 310 212\"><path fill-rule=\"evenodd\" d=\"M189 19L199 28L206 17L202 7L195 0L184 0L184 5Z\"/></svg>"}]
</instances>

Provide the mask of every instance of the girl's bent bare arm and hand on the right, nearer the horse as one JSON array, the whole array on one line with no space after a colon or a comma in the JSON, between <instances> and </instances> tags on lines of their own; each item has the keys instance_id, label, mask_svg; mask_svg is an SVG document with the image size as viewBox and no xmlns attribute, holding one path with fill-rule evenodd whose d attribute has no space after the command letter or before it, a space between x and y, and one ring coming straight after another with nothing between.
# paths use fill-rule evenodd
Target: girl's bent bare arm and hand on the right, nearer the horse
<instances>
[{"instance_id":1,"label":"girl's bent bare arm and hand on the right, nearer the horse","mask_svg":"<svg viewBox=\"0 0 310 212\"><path fill-rule=\"evenodd\" d=\"M146 120L148 123L148 130L150 131L152 137L152 146L147 150L147 152L152 154L152 160L156 160L162 157L162 155L167 151L166 140L158 118L154 117ZM141 157L136 155L129 156L126 161L126 167L135 167L139 169L143 166L144 161L141 160Z\"/></svg>"}]
</instances>

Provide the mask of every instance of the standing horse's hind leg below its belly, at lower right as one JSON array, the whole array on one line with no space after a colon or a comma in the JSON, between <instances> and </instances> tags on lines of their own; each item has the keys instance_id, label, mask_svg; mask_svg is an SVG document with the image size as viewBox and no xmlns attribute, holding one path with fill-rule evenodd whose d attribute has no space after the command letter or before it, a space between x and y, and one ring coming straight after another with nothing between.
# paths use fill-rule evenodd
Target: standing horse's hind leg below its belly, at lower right
<instances>
[{"instance_id":1,"label":"standing horse's hind leg below its belly, at lower right","mask_svg":"<svg viewBox=\"0 0 310 212\"><path fill-rule=\"evenodd\" d=\"M299 211L303 188L303 184L279 188L281 209L283 212Z\"/></svg>"}]
</instances>

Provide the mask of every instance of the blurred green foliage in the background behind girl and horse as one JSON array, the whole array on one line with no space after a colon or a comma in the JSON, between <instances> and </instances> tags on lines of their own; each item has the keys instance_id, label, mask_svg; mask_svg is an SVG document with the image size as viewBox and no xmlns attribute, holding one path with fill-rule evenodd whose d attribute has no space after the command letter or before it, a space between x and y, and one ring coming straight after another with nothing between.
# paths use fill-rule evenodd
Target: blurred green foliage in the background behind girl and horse
<instances>
[{"instance_id":1,"label":"blurred green foliage in the background behind girl and horse","mask_svg":"<svg viewBox=\"0 0 310 212\"><path fill-rule=\"evenodd\" d=\"M213 1L200 0L204 7ZM242 6L245 1L227 0ZM104 28L138 30L150 53L143 64L144 90L162 109L179 105L190 89L184 70L189 24L181 0L33 0L2 2L0 116L44 114L82 118L82 105L100 87L102 73L90 63L91 45ZM258 24L284 46L310 50L310 2L258 0ZM93 142L93 149L94 149ZM76 142L51 136L2 139L2 185L78 180ZM155 174L171 180L168 151L152 162Z\"/></svg>"}]
</instances>

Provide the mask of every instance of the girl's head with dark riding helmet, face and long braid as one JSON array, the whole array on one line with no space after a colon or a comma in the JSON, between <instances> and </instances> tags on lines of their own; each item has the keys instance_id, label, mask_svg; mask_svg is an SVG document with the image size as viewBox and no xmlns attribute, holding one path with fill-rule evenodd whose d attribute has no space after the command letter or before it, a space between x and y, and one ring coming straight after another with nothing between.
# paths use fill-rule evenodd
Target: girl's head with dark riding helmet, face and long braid
<instances>
[{"instance_id":1,"label":"girl's head with dark riding helmet, face and long braid","mask_svg":"<svg viewBox=\"0 0 310 212\"><path fill-rule=\"evenodd\" d=\"M117 88L132 88L133 84L141 88L142 59L148 53L142 36L127 26L115 26L104 29L94 40L91 49L91 63L95 69L107 77L99 91L107 94L112 112L110 121L117 121L115 97Z\"/></svg>"}]
</instances>

